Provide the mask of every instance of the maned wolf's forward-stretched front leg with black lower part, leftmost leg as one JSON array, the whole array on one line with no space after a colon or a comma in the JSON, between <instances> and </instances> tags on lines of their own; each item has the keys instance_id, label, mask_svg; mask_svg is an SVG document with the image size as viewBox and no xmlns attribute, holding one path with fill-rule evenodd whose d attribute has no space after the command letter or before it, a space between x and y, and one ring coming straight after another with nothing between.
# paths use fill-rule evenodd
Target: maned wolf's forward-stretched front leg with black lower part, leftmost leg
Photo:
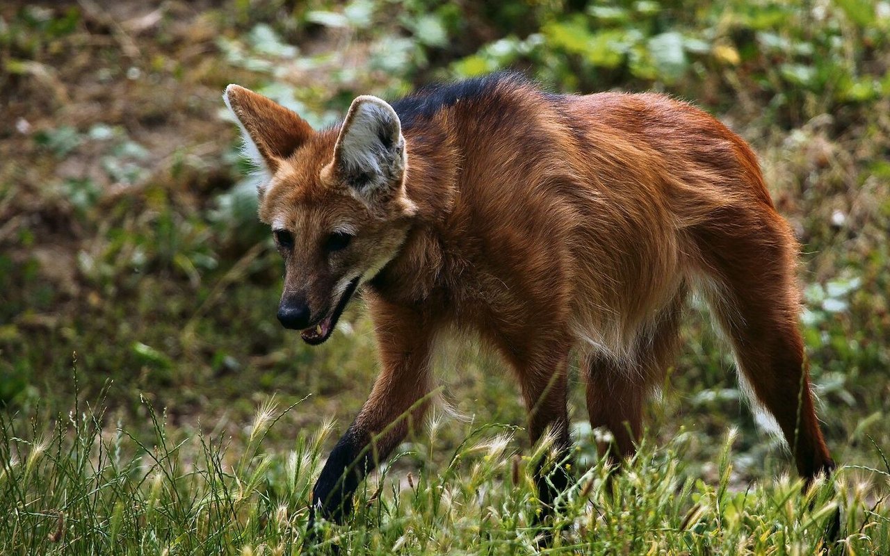
<instances>
[{"instance_id":1,"label":"maned wolf's forward-stretched front leg with black lower part, leftmost leg","mask_svg":"<svg viewBox=\"0 0 890 556\"><path fill-rule=\"evenodd\" d=\"M430 326L415 311L379 301L372 305L372 314L381 372L312 489L310 526L316 512L343 522L352 512L352 494L361 480L422 421L429 405Z\"/></svg>"}]
</instances>

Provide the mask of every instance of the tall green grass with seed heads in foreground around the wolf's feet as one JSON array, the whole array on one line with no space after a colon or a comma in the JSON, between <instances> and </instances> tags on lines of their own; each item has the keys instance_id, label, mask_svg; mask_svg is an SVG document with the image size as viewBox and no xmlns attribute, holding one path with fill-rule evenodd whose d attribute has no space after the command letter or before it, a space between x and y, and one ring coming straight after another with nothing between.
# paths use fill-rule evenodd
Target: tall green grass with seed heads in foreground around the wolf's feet
<instances>
[{"instance_id":1,"label":"tall green grass with seed heads in foreground around the wolf's feet","mask_svg":"<svg viewBox=\"0 0 890 556\"><path fill-rule=\"evenodd\" d=\"M306 508L330 426L270 450L267 434L300 402L284 409L264 403L234 436L183 434L142 403L150 426L140 431L77 403L52 418L40 410L0 416L4 554L299 554L332 544L352 554L538 552L544 531L534 525L539 507L528 463L552 456L546 441L519 455L512 426L466 423L463 440L442 459L433 452L453 423L434 419L360 488L351 520L320 523L319 544L310 546L303 544ZM842 466L804 496L801 481L787 476L740 487L735 435L716 439L714 481L690 472L694 436L685 431L661 447L644 440L618 473L590 458L592 435L582 435L569 463L576 480L548 529L559 533L544 552L890 550L890 465L878 447L881 469ZM837 510L841 538L825 544L822 532Z\"/></svg>"}]
</instances>

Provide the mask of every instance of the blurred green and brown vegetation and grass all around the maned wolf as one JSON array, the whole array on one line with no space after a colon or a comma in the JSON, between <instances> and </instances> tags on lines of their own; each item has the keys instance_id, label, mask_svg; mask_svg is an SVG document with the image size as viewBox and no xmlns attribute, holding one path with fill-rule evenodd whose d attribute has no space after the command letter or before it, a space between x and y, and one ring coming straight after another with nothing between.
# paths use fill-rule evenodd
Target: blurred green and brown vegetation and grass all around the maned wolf
<instances>
[{"instance_id":1,"label":"blurred green and brown vegetation and grass all around the maned wolf","mask_svg":"<svg viewBox=\"0 0 890 556\"><path fill-rule=\"evenodd\" d=\"M360 303L320 348L278 326L281 265L223 88L326 125L360 93L508 67L554 91L671 93L751 142L804 246L802 326L844 464L799 495L694 307L611 483L573 404L578 484L551 551L807 554L839 507L831 550L890 552L890 3L7 2L0 65L0 552L303 551L314 473L376 374L370 326ZM534 552L525 465L546 447L515 428L518 392L474 346L438 367L433 426L326 542Z\"/></svg>"}]
</instances>

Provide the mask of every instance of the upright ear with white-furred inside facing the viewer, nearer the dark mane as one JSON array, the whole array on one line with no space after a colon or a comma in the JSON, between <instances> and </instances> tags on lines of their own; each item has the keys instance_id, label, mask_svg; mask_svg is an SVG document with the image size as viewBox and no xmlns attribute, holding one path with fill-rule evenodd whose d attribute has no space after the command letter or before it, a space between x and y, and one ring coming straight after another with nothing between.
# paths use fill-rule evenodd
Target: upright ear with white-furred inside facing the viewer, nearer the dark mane
<instances>
[{"instance_id":1,"label":"upright ear with white-furred inside facing the viewer, nearer the dark mane","mask_svg":"<svg viewBox=\"0 0 890 556\"><path fill-rule=\"evenodd\" d=\"M392 106L373 96L352 101L328 171L368 205L402 190L407 155L401 122Z\"/></svg>"}]
</instances>

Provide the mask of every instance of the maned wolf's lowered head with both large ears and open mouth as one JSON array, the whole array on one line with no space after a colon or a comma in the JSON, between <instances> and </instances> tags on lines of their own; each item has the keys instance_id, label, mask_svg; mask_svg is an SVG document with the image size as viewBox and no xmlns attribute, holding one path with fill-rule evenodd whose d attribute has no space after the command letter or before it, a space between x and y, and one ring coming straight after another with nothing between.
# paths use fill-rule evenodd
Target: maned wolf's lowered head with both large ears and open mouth
<instances>
[{"instance_id":1,"label":"maned wolf's lowered head with both large ears and open mouth","mask_svg":"<svg viewBox=\"0 0 890 556\"><path fill-rule=\"evenodd\" d=\"M342 125L315 132L238 85L223 98L265 174L260 219L285 260L278 318L302 330L305 342L324 342L356 288L398 253L416 212L405 193L399 117L386 102L360 96Z\"/></svg>"}]
</instances>

